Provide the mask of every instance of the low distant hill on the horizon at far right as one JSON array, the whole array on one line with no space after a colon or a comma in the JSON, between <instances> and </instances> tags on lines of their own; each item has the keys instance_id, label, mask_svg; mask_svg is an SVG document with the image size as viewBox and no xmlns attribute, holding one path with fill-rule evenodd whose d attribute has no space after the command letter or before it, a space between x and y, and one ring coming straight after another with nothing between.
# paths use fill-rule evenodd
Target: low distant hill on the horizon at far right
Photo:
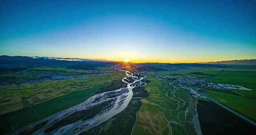
<instances>
[{"instance_id":1,"label":"low distant hill on the horizon at far right","mask_svg":"<svg viewBox=\"0 0 256 135\"><path fill-rule=\"evenodd\" d=\"M200 64L240 64L240 65L256 65L256 59L252 60L225 60L225 61L217 61L217 62L207 62Z\"/></svg>"}]
</instances>

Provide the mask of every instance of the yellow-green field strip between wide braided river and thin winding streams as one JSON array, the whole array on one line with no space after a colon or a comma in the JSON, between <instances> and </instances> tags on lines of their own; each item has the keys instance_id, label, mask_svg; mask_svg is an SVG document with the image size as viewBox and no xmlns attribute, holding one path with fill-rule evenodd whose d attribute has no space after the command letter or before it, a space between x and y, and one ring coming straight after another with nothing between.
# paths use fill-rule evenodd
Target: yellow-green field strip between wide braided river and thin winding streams
<instances>
[{"instance_id":1,"label":"yellow-green field strip between wide braided river and thin winding streams","mask_svg":"<svg viewBox=\"0 0 256 135\"><path fill-rule=\"evenodd\" d=\"M149 96L142 99L142 107L137 113L133 135L170 135L171 129L159 105L163 101L158 88L160 82L152 75L147 76L150 83L145 89L149 92Z\"/></svg>"}]
</instances>

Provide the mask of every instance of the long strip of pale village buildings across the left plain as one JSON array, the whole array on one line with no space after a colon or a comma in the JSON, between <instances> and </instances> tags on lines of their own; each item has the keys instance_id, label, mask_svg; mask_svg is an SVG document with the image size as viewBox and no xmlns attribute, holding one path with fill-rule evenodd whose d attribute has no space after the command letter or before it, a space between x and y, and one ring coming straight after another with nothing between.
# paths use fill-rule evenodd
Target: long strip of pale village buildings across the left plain
<instances>
[{"instance_id":1,"label":"long strip of pale village buildings across the left plain","mask_svg":"<svg viewBox=\"0 0 256 135\"><path fill-rule=\"evenodd\" d=\"M22 80L22 81L17 81L17 82L12 82L12 83L0 83L0 85L16 85L16 84L22 84L22 83L36 83L36 82L41 82L41 81L82 78L82 77L87 77L87 76L90 76L90 75L49 75L48 77L45 77L45 78L34 79L34 80Z\"/></svg>"}]
</instances>

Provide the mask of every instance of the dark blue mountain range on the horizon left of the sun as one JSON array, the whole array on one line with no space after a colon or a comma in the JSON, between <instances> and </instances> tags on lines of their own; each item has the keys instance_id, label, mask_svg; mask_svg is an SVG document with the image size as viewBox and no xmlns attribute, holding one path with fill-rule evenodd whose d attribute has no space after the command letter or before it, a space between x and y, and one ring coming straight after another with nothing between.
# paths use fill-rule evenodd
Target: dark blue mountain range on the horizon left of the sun
<instances>
[{"instance_id":1,"label":"dark blue mountain range on the horizon left of the sun","mask_svg":"<svg viewBox=\"0 0 256 135\"><path fill-rule=\"evenodd\" d=\"M64 67L92 70L95 67L110 67L120 62L74 58L30 57L30 56L0 56L0 66L4 67Z\"/></svg>"}]
</instances>

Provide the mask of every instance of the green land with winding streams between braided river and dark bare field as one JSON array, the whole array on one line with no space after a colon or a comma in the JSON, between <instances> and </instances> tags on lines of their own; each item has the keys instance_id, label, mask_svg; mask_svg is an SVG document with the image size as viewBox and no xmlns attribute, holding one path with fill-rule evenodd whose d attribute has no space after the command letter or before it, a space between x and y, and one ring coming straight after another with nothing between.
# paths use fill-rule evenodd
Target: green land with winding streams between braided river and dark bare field
<instances>
[{"instance_id":1,"label":"green land with winding streams between braided river and dark bare field","mask_svg":"<svg viewBox=\"0 0 256 135\"><path fill-rule=\"evenodd\" d=\"M195 135L192 114L186 113L188 94L156 75L147 76L149 96L141 100L133 135Z\"/></svg>"}]
</instances>

